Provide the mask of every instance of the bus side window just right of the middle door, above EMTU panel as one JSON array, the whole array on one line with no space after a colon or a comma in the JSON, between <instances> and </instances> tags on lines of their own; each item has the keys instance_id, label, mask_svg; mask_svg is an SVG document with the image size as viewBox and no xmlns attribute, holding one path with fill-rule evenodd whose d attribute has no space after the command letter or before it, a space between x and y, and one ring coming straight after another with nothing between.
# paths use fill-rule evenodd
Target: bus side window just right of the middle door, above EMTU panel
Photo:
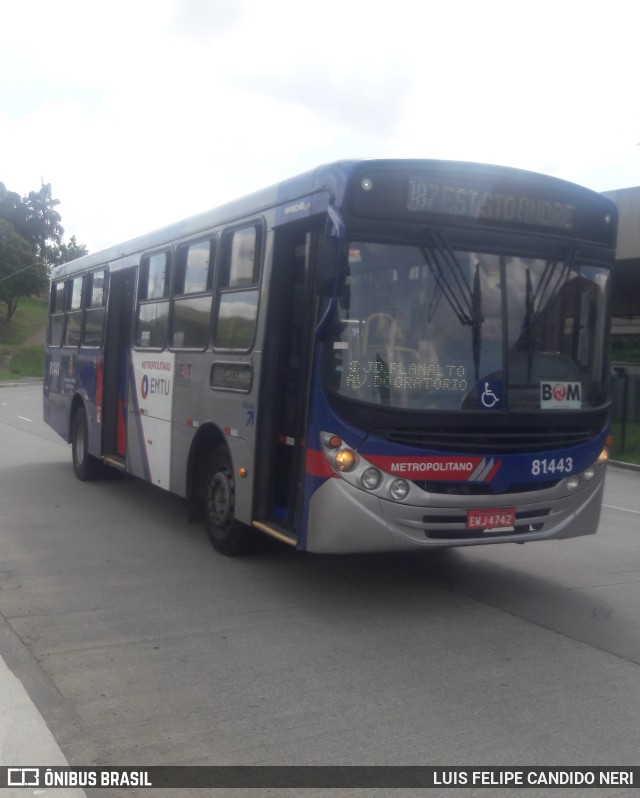
<instances>
[{"instance_id":1,"label":"bus side window just right of the middle door, above EMTU panel","mask_svg":"<svg viewBox=\"0 0 640 798\"><path fill-rule=\"evenodd\" d=\"M146 255L140 264L135 340L143 349L162 349L167 340L170 267L168 252Z\"/></svg>"}]
</instances>

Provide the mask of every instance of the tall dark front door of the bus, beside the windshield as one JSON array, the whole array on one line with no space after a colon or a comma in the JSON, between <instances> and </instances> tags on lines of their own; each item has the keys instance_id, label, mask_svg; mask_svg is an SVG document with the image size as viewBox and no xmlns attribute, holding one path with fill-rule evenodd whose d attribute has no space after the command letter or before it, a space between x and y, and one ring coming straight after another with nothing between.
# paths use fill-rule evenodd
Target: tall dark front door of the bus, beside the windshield
<instances>
[{"instance_id":1,"label":"tall dark front door of the bus, beside the windshield","mask_svg":"<svg viewBox=\"0 0 640 798\"><path fill-rule=\"evenodd\" d=\"M316 299L310 277L315 234L276 231L264 345L257 509L291 537L300 528Z\"/></svg>"}]
</instances>

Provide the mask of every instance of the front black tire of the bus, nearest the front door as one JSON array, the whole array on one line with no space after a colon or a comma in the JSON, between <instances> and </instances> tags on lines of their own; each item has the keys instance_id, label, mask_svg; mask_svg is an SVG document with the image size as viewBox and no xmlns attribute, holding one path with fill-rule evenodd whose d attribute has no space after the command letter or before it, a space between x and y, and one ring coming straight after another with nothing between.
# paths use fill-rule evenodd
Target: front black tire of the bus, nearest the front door
<instances>
[{"instance_id":1,"label":"front black tire of the bus, nearest the front door","mask_svg":"<svg viewBox=\"0 0 640 798\"><path fill-rule=\"evenodd\" d=\"M254 548L256 532L235 518L236 488L231 459L225 446L211 456L204 493L204 512L211 545L220 554L236 557Z\"/></svg>"}]
</instances>

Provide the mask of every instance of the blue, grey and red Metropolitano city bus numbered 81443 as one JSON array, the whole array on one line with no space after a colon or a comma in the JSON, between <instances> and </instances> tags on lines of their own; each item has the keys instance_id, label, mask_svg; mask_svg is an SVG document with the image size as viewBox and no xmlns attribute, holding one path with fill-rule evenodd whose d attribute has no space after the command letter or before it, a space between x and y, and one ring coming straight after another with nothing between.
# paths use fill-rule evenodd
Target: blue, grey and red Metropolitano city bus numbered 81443
<instances>
[{"instance_id":1,"label":"blue, grey and red Metropolitano city bus numbered 81443","mask_svg":"<svg viewBox=\"0 0 640 798\"><path fill-rule=\"evenodd\" d=\"M616 226L513 168L319 167L54 269L44 418L227 555L592 534Z\"/></svg>"}]
</instances>

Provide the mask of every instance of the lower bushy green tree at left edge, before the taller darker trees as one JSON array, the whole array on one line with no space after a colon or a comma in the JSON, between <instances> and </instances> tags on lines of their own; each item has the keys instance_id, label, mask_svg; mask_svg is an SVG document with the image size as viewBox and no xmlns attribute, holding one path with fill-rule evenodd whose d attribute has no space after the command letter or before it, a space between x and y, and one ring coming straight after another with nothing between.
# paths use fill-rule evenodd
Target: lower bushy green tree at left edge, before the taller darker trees
<instances>
[{"instance_id":1,"label":"lower bushy green tree at left edge, before the taller darker trees","mask_svg":"<svg viewBox=\"0 0 640 798\"><path fill-rule=\"evenodd\" d=\"M48 282L43 260L10 222L0 219L0 302L7 306L7 321L11 321L21 296L39 294Z\"/></svg>"}]
</instances>

